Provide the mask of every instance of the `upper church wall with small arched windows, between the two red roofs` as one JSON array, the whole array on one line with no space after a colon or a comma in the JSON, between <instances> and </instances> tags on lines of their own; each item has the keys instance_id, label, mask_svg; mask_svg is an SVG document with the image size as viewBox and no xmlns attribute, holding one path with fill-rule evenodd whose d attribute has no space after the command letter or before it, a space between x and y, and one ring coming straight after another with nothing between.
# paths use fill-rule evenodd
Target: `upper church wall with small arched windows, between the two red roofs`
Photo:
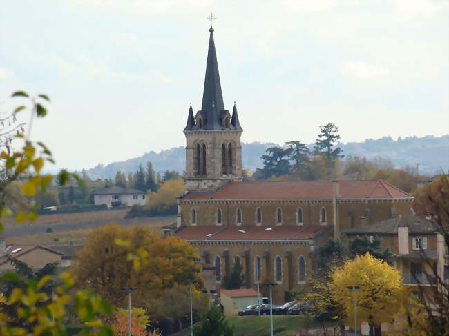
<instances>
[{"instance_id":1,"label":"upper church wall with small arched windows, between the two red roofs","mask_svg":"<svg viewBox=\"0 0 449 336\"><path fill-rule=\"evenodd\" d=\"M283 213L280 225L296 226L298 224L298 208L303 209L302 225L329 225L333 223L333 204L331 200L323 201L190 201L181 200L182 224L191 226L191 210L197 211L198 226L217 225L217 210L222 210L222 225L238 225L236 223L237 209L242 210L243 226L260 225L256 222L256 209L262 210L262 226L278 225L276 210ZM396 215L410 215L411 201L372 200L372 201L343 201L339 200L337 209L338 235L340 232L354 226L374 224L378 221L392 218ZM326 222L320 219L321 208L326 209ZM365 219L361 219L365 217Z\"/></svg>"}]
</instances>

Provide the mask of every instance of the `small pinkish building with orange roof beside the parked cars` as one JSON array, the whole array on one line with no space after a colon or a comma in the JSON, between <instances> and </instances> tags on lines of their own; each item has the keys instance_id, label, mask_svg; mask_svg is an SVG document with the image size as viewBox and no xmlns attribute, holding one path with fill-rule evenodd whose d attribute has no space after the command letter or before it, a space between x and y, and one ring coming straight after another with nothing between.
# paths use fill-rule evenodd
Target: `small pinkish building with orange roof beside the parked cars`
<instances>
[{"instance_id":1,"label":"small pinkish building with orange roof beside the parked cars","mask_svg":"<svg viewBox=\"0 0 449 336\"><path fill-rule=\"evenodd\" d=\"M238 310L250 304L262 304L262 295L252 288L222 289L220 299L226 316L238 315Z\"/></svg>"}]
</instances>

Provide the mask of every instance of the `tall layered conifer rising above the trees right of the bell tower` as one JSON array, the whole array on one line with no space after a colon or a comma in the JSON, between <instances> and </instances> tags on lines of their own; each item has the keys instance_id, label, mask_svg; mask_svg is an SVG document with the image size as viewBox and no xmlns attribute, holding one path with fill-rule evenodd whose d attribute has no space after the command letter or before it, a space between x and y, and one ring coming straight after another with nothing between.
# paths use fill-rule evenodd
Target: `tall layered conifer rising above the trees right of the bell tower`
<instances>
[{"instance_id":1,"label":"tall layered conifer rising above the trees right of the bell tower","mask_svg":"<svg viewBox=\"0 0 449 336\"><path fill-rule=\"evenodd\" d=\"M338 135L338 127L335 123L327 123L325 126L320 126L320 134L316 139L315 150L318 155L326 158L328 166L333 166L334 160L344 157L341 155L341 148L334 148L335 141L340 139Z\"/></svg>"}]
</instances>

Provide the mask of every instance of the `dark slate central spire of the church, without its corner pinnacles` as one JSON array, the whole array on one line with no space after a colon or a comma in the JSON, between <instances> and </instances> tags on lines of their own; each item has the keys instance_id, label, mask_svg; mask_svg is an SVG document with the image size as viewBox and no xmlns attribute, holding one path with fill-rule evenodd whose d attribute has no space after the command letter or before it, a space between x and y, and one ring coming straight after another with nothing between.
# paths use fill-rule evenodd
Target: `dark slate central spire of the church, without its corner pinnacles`
<instances>
[{"instance_id":1,"label":"dark slate central spire of the church, without its corner pinnacles","mask_svg":"<svg viewBox=\"0 0 449 336\"><path fill-rule=\"evenodd\" d=\"M213 41L213 28L209 29L209 50L207 52L206 77L204 78L204 91L202 93L201 110L206 115L207 130L219 130L218 113L225 110L223 103L223 94L220 84L220 75L218 74L217 54L215 43ZM214 106L214 107L213 107Z\"/></svg>"}]
</instances>

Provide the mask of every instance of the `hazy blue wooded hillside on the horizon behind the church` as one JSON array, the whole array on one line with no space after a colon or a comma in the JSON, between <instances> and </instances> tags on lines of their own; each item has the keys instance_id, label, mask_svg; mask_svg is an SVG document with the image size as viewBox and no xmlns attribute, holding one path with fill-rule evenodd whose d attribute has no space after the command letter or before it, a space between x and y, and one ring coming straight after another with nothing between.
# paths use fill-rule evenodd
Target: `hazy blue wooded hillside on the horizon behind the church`
<instances>
[{"instance_id":1,"label":"hazy blue wooded hillside on the horizon behind the church","mask_svg":"<svg viewBox=\"0 0 449 336\"><path fill-rule=\"evenodd\" d=\"M274 146L272 143L242 143L243 168L254 171L262 166L260 157L265 154L265 150ZM313 147L313 145L310 145ZM343 154L367 157L371 159L376 156L391 159L397 168L405 165L416 167L419 163L419 172L426 175L434 175L441 172L441 169L449 169L449 135L442 137L406 137L397 140L391 137L381 139L367 139L363 142L349 142L339 144L343 149ZM151 162L156 172L164 170L184 170L185 152L184 147L174 147L162 150L157 153L153 150L146 152L141 157L135 157L122 162L113 162L103 166L98 164L94 168L87 170L91 178L114 177L117 170L122 172L135 172L137 167L146 162Z\"/></svg>"}]
</instances>

